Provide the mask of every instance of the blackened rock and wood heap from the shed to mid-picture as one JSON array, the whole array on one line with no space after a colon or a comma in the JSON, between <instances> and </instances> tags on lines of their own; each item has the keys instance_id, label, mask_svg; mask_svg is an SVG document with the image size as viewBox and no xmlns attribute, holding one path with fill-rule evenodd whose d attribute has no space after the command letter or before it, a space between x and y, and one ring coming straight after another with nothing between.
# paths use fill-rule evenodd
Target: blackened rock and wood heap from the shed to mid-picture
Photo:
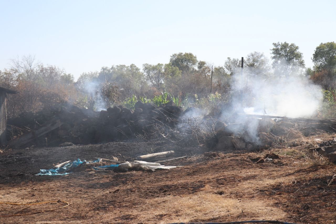
<instances>
[{"instance_id":1,"label":"blackened rock and wood heap from the shed to mid-picture","mask_svg":"<svg viewBox=\"0 0 336 224\"><path fill-rule=\"evenodd\" d=\"M104 143L134 139L162 129L175 129L181 107L143 104L138 101L135 109L114 106L95 112L70 104L50 111L26 114L11 119L7 130L11 148L23 146L56 146L60 143Z\"/></svg>"}]
</instances>

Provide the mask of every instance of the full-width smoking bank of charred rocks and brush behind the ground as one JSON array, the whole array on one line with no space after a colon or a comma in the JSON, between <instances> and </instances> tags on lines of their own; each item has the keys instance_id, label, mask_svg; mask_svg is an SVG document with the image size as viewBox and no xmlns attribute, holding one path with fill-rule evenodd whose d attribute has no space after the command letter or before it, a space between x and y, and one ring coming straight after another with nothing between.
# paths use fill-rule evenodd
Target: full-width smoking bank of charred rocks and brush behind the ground
<instances>
[{"instance_id":1,"label":"full-width smoking bank of charred rocks and brush behind the ground","mask_svg":"<svg viewBox=\"0 0 336 224\"><path fill-rule=\"evenodd\" d=\"M140 138L217 151L253 151L336 130L335 120L271 119L273 116L236 113L223 118L200 114L195 108L183 111L172 104L158 107L141 101L133 110L120 105L100 112L62 104L50 111L10 119L7 147L94 144Z\"/></svg>"}]
</instances>

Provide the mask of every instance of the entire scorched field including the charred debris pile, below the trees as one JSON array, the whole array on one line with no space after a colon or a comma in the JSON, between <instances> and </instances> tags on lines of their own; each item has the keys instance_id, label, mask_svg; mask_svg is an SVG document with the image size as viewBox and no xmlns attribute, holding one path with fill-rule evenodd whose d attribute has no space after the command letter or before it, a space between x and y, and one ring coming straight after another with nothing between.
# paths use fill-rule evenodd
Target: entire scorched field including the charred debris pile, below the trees
<instances>
[{"instance_id":1,"label":"entire scorched field including the charred debris pile, below the trees","mask_svg":"<svg viewBox=\"0 0 336 224\"><path fill-rule=\"evenodd\" d=\"M1 222L335 220L335 120L135 107L65 104L12 126L0 202L26 204L0 204Z\"/></svg>"}]
</instances>

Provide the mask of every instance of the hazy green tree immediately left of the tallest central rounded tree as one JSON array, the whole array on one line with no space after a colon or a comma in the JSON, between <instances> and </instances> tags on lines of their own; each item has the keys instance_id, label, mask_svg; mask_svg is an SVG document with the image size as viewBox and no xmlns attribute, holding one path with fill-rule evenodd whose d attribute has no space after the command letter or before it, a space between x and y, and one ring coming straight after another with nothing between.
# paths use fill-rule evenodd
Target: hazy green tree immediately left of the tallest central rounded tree
<instances>
[{"instance_id":1,"label":"hazy green tree immediately left of the tallest central rounded tree","mask_svg":"<svg viewBox=\"0 0 336 224\"><path fill-rule=\"evenodd\" d=\"M153 85L156 87L160 87L160 85L163 83L163 72L164 72L164 66L163 64L157 64L157 65L150 65L150 64L143 64L142 65L142 71L148 81L150 81Z\"/></svg>"}]
</instances>

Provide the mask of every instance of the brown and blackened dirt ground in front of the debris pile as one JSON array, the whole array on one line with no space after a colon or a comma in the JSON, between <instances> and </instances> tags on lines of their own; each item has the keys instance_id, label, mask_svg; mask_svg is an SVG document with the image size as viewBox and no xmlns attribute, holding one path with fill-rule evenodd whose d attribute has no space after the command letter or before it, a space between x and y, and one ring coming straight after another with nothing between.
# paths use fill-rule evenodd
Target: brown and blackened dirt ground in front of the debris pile
<instances>
[{"instance_id":1,"label":"brown and blackened dirt ground in front of the debris pile","mask_svg":"<svg viewBox=\"0 0 336 224\"><path fill-rule=\"evenodd\" d=\"M313 139L295 147L261 152L218 152L172 144L115 142L99 145L30 148L0 154L0 202L34 203L65 200L70 206L34 215L0 217L0 223L173 223L281 220L335 223L336 166L309 152ZM135 156L175 150L188 157L156 172L93 170L67 176L35 176L40 169L76 158L131 161ZM276 158L277 155L279 158ZM270 162L257 163L260 158ZM329 186L328 186L329 185ZM0 215L31 213L63 206L0 204Z\"/></svg>"}]
</instances>

